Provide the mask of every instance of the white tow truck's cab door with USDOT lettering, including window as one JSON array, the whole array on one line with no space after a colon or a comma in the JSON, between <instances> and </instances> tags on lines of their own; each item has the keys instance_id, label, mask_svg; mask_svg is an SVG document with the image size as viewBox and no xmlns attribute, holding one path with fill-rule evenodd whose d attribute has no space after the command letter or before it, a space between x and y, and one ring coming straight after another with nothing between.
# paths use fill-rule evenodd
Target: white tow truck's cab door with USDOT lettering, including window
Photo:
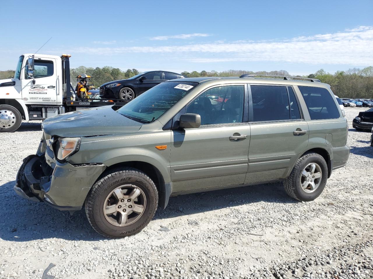
<instances>
[{"instance_id":1,"label":"white tow truck's cab door with USDOT lettering, including window","mask_svg":"<svg viewBox=\"0 0 373 279\"><path fill-rule=\"evenodd\" d=\"M27 63L27 59L25 59ZM25 67L25 65L24 65ZM57 103L57 73L56 73L56 59L42 58L34 59L34 78L27 76L26 70L23 72L21 85L22 85L22 98L26 103L30 104L43 104L43 105L56 105Z\"/></svg>"}]
</instances>

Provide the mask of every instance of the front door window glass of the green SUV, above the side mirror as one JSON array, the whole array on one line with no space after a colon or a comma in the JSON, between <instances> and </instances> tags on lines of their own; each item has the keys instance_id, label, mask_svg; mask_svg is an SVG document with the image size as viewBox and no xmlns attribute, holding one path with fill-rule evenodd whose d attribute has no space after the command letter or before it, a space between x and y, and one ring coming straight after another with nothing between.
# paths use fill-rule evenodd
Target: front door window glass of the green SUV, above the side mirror
<instances>
[{"instance_id":1,"label":"front door window glass of the green SUV, above the side mirror","mask_svg":"<svg viewBox=\"0 0 373 279\"><path fill-rule=\"evenodd\" d=\"M214 87L194 100L186 113L201 116L201 125L241 123L244 110L244 86Z\"/></svg>"}]
</instances>

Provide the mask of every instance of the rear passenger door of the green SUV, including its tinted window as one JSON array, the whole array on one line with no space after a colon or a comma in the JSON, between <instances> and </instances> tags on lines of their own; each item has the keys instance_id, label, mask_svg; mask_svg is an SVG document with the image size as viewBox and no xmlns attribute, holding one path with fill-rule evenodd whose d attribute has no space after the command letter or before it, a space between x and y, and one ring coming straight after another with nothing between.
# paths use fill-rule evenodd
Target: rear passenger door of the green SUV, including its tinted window
<instances>
[{"instance_id":1,"label":"rear passenger door of the green SUV, including its tinted window","mask_svg":"<svg viewBox=\"0 0 373 279\"><path fill-rule=\"evenodd\" d=\"M308 124L292 86L250 86L252 113L245 183L283 178L308 145ZM250 93L250 92L249 92Z\"/></svg>"}]
</instances>

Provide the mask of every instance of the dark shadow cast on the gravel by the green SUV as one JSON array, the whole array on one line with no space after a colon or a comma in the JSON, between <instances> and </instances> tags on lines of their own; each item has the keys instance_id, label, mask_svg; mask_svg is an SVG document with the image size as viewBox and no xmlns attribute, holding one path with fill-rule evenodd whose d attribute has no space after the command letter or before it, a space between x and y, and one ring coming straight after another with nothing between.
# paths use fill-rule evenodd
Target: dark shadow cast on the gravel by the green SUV
<instances>
[{"instance_id":1,"label":"dark shadow cast on the gravel by the green SUV","mask_svg":"<svg viewBox=\"0 0 373 279\"><path fill-rule=\"evenodd\" d=\"M89 224L84 210L70 216L67 211L20 198L13 191L15 181L0 186L5 203L0 206L0 238L7 241L30 241L46 238L99 241L101 237ZM250 203L297 203L289 198L281 183L254 185L171 197L165 210L158 209L154 219L228 209Z\"/></svg>"}]
</instances>

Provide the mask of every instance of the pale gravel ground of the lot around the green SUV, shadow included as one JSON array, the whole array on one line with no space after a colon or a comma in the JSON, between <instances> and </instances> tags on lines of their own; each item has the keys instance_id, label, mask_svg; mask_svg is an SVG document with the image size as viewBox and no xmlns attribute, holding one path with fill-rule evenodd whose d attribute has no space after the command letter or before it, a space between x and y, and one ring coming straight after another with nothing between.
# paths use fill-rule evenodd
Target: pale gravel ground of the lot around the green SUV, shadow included
<instances>
[{"instance_id":1,"label":"pale gravel ground of the lot around the green SUV, shadow included","mask_svg":"<svg viewBox=\"0 0 373 279\"><path fill-rule=\"evenodd\" d=\"M373 278L373 148L350 122L347 166L323 194L296 202L280 183L170 198L150 224L100 237L84 211L70 216L13 192L40 122L0 134L0 278Z\"/></svg>"}]
</instances>

